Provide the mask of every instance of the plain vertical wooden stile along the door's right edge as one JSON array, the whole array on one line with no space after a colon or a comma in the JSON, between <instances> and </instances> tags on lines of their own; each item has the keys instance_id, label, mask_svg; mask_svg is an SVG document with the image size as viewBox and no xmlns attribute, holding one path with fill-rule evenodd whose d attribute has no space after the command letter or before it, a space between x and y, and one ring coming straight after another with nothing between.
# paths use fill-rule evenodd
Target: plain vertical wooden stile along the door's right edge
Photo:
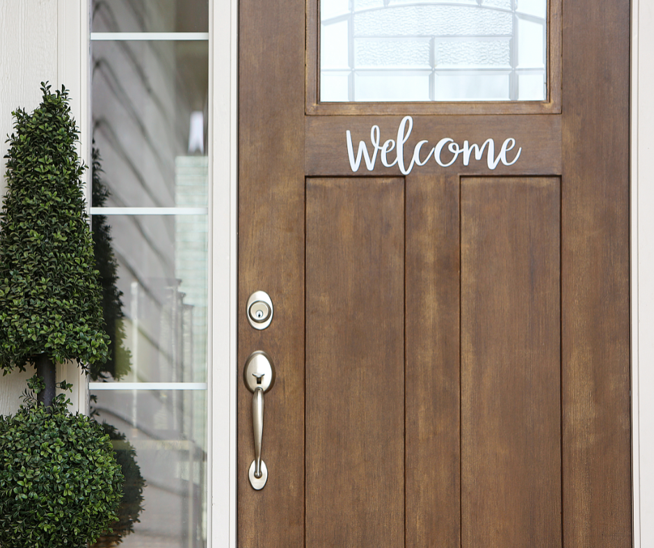
<instances>
[{"instance_id":1,"label":"plain vertical wooden stile along the door's right edge","mask_svg":"<svg viewBox=\"0 0 654 548\"><path fill-rule=\"evenodd\" d=\"M632 545L629 318L630 5L563 19L564 546Z\"/></svg>"}]
</instances>

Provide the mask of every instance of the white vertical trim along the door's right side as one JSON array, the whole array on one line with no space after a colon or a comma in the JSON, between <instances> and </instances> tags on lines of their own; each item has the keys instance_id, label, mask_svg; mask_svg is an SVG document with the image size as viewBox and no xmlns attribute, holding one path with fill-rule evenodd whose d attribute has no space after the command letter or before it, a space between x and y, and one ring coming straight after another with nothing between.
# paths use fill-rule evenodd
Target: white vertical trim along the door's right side
<instances>
[{"instance_id":1,"label":"white vertical trim along the door's right side","mask_svg":"<svg viewBox=\"0 0 654 548\"><path fill-rule=\"evenodd\" d=\"M653 28L654 5L648 0L632 0L632 479L634 546L637 548L654 544Z\"/></svg>"}]
</instances>

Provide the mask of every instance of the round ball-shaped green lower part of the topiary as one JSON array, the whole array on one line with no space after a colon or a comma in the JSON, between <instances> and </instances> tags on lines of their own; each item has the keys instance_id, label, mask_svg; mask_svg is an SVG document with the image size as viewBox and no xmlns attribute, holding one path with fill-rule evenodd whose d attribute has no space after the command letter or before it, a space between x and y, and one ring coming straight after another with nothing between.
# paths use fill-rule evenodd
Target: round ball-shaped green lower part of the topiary
<instances>
[{"instance_id":1,"label":"round ball-shaped green lower part of the topiary","mask_svg":"<svg viewBox=\"0 0 654 548\"><path fill-rule=\"evenodd\" d=\"M24 400L0 417L0 546L86 548L118 519L123 477L109 436L68 412L63 394L49 408Z\"/></svg>"}]
</instances>

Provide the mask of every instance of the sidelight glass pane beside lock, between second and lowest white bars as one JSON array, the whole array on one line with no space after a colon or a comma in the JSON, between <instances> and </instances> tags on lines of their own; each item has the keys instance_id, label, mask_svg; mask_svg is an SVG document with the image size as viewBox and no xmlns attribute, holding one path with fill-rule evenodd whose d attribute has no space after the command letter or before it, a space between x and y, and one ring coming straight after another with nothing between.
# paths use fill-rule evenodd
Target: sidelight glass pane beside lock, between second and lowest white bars
<instances>
[{"instance_id":1,"label":"sidelight glass pane beside lock, between second and lowest white bars","mask_svg":"<svg viewBox=\"0 0 654 548\"><path fill-rule=\"evenodd\" d=\"M99 222L111 236L122 307L105 317L117 326L115 360L97 380L207 382L207 216L95 213Z\"/></svg>"}]
</instances>

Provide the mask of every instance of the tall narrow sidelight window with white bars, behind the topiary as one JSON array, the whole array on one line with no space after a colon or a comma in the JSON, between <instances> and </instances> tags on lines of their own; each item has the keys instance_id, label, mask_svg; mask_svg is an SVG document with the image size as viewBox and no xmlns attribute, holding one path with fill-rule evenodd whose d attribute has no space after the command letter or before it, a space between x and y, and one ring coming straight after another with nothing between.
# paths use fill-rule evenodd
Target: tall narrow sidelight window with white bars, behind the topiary
<instances>
[{"instance_id":1,"label":"tall narrow sidelight window with white bars, behind the topiary","mask_svg":"<svg viewBox=\"0 0 654 548\"><path fill-rule=\"evenodd\" d=\"M207 0L94 0L90 39L91 215L114 352L89 392L145 481L122 546L205 546Z\"/></svg>"}]
</instances>

